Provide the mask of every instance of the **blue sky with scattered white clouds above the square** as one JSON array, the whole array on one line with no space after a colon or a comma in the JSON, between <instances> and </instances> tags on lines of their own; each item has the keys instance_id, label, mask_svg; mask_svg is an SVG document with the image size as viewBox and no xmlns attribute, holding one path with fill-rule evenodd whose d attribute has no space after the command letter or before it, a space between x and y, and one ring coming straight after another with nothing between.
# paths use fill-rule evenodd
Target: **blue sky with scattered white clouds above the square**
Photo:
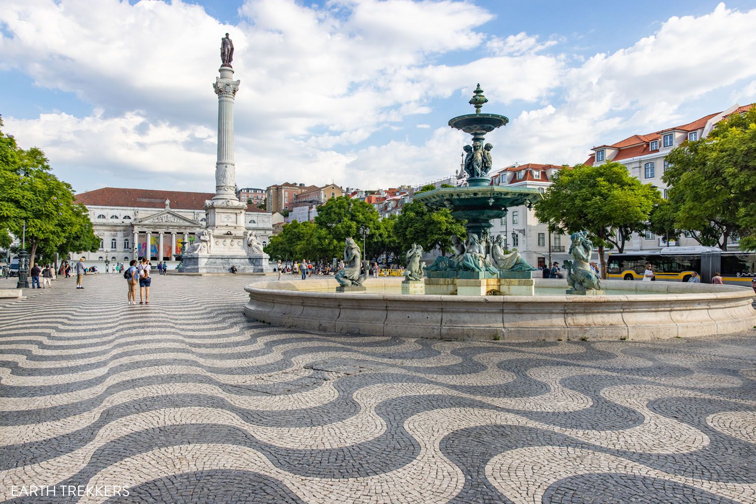
<instances>
[{"instance_id":1,"label":"blue sky with scattered white clouds above the square","mask_svg":"<svg viewBox=\"0 0 756 504\"><path fill-rule=\"evenodd\" d=\"M454 174L483 112L494 169L756 101L756 0L0 0L0 114L76 192L215 187L220 40L239 187Z\"/></svg>"}]
</instances>

